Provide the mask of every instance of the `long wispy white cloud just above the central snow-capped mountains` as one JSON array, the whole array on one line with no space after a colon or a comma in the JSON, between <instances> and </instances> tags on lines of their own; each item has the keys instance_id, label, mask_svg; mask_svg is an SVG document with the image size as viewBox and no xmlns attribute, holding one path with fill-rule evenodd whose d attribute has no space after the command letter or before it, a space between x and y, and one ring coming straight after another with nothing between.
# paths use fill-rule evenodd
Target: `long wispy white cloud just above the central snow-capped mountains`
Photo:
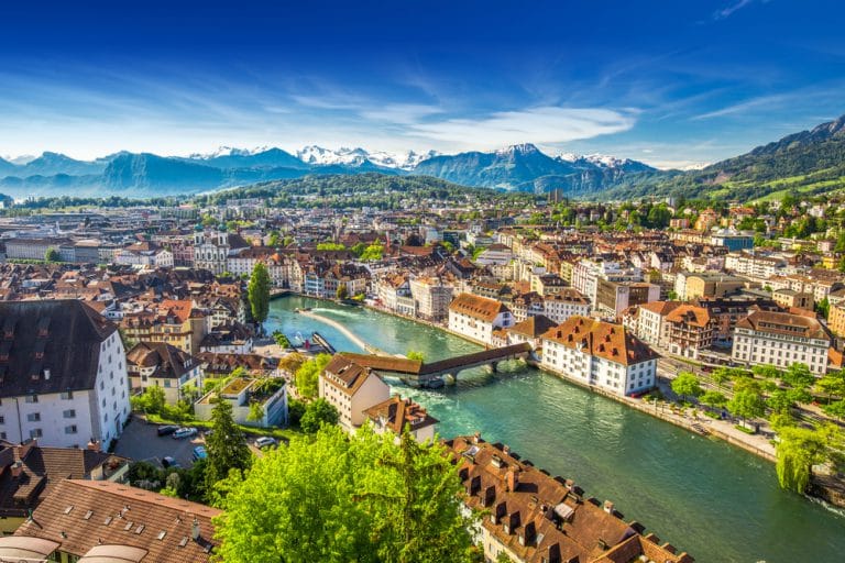
<instances>
[{"instance_id":1,"label":"long wispy white cloud just above the central snow-capped mountains","mask_svg":"<svg viewBox=\"0 0 845 563\"><path fill-rule=\"evenodd\" d=\"M633 112L600 108L541 107L481 119L409 124L408 135L453 146L496 148L515 143L555 144L619 133L634 126Z\"/></svg>"}]
</instances>

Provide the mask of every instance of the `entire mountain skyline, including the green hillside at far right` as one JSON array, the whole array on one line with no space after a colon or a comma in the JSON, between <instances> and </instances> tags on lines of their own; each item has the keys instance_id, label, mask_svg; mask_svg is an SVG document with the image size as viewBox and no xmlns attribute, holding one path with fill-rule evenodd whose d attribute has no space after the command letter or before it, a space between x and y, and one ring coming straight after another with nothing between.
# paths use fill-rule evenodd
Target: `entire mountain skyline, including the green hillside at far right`
<instances>
[{"instance_id":1,"label":"entire mountain skyline, including the green hillside at far right","mask_svg":"<svg viewBox=\"0 0 845 563\"><path fill-rule=\"evenodd\" d=\"M548 155L533 144L452 155L361 147L221 147L210 154L158 156L120 152L85 162L44 153L25 163L0 158L0 191L29 196L190 195L308 175L432 176L453 184L569 197L628 200L683 195L745 201L794 191L845 188L845 117L698 170L658 170L606 155Z\"/></svg>"}]
</instances>

